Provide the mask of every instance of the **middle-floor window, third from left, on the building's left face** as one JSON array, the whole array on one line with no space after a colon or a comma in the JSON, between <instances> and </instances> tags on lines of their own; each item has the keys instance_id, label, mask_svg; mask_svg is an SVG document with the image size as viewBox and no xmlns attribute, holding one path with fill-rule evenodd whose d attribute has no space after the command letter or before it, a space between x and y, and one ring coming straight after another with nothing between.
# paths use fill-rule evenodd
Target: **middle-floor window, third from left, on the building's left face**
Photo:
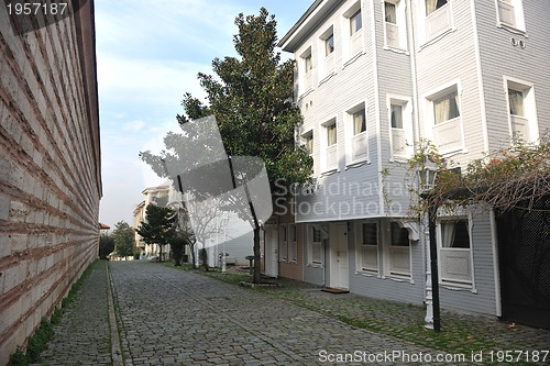
<instances>
[{"instance_id":1,"label":"middle-floor window, third from left, on the building's left face","mask_svg":"<svg viewBox=\"0 0 550 366\"><path fill-rule=\"evenodd\" d=\"M364 162L369 157L365 104L361 103L348 110L346 114L349 120L348 131L349 135L351 135L351 144L346 144L345 146L345 160L348 164Z\"/></svg>"}]
</instances>

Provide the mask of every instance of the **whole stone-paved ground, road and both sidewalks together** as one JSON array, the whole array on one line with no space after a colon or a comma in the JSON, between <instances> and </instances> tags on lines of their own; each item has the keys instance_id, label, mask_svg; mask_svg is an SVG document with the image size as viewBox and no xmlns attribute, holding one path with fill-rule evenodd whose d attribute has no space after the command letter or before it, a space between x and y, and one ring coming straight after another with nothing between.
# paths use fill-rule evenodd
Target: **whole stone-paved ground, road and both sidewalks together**
<instances>
[{"instance_id":1,"label":"whole stone-paved ground, road and both sidewalks together","mask_svg":"<svg viewBox=\"0 0 550 366\"><path fill-rule=\"evenodd\" d=\"M107 265L120 340L109 328ZM246 278L208 275L233 282ZM550 345L548 331L447 312L443 332L437 335L422 329L421 308L278 282L279 288L250 289L162 264L101 262L56 328L43 364L333 365L329 361L360 352L363 358L339 365L437 365L413 363L410 357L447 351L464 354L465 362L439 365L480 365L470 359L471 350L482 350L485 364L491 351L497 361L497 351ZM111 319L116 322L113 311ZM374 363L364 358L392 352L400 352L400 357Z\"/></svg>"}]
</instances>

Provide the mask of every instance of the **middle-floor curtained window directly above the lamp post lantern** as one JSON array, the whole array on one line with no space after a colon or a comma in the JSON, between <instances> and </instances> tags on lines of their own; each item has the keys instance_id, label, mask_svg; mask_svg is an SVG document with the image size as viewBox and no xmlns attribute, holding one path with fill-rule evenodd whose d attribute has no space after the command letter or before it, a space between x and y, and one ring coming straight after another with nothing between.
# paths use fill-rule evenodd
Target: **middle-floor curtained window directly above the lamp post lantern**
<instances>
[{"instance_id":1,"label":"middle-floor curtained window directly above the lamp post lantern","mask_svg":"<svg viewBox=\"0 0 550 366\"><path fill-rule=\"evenodd\" d=\"M428 97L432 114L432 141L442 154L464 148L458 85L439 90Z\"/></svg>"}]
</instances>

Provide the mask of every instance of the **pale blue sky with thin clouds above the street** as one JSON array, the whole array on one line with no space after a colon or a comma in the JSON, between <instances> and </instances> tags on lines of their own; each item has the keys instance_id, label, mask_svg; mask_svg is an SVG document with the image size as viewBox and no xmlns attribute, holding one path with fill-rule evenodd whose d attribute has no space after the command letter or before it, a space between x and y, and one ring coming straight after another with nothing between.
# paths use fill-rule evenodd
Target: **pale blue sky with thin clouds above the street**
<instances>
[{"instance_id":1,"label":"pale blue sky with thin clouds above the street","mask_svg":"<svg viewBox=\"0 0 550 366\"><path fill-rule=\"evenodd\" d=\"M264 7L283 37L312 0L96 0L96 47L103 197L99 221L133 223L143 189L163 184L140 160L160 153L185 92L206 93L198 73L212 75L213 58L237 56L239 13ZM283 53L283 58L292 57Z\"/></svg>"}]
</instances>

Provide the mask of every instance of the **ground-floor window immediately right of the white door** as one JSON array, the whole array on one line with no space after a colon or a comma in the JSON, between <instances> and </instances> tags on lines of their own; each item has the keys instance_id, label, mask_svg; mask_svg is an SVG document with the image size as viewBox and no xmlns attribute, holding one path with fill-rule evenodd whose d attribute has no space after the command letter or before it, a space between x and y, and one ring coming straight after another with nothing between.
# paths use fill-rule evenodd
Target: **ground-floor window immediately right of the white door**
<instances>
[{"instance_id":1,"label":"ground-floor window immediately right of the white door","mask_svg":"<svg viewBox=\"0 0 550 366\"><path fill-rule=\"evenodd\" d=\"M378 225L362 222L358 225L358 270L378 271Z\"/></svg>"}]
</instances>

